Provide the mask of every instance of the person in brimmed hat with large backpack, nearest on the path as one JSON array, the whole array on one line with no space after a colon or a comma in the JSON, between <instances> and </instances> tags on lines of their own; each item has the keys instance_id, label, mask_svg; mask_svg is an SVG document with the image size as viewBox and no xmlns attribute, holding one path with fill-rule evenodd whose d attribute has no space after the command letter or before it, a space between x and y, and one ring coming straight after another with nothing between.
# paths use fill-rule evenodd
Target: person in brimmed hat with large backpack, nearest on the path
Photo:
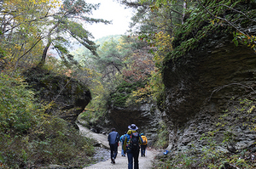
<instances>
[{"instance_id":1,"label":"person in brimmed hat with large backpack, nearest on the path","mask_svg":"<svg viewBox=\"0 0 256 169\"><path fill-rule=\"evenodd\" d=\"M128 169L132 169L133 160L134 160L134 169L138 169L138 156L140 152L139 144L143 143L143 138L137 132L138 127L135 124L131 124L128 127L127 134L125 135L125 141L123 145L123 149L127 153L128 157Z\"/></svg>"}]
</instances>

